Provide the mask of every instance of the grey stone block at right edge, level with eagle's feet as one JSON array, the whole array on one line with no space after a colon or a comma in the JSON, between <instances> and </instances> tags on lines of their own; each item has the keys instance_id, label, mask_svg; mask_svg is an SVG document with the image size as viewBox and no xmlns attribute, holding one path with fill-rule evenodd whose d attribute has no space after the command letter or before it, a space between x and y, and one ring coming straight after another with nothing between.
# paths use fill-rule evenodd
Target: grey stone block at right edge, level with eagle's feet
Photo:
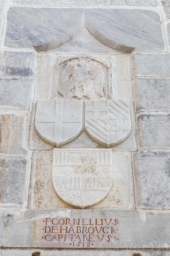
<instances>
[{"instance_id":1,"label":"grey stone block at right edge, level with eagle's feet","mask_svg":"<svg viewBox=\"0 0 170 256\"><path fill-rule=\"evenodd\" d=\"M132 81L135 112L170 110L169 78L136 77Z\"/></svg>"}]
</instances>

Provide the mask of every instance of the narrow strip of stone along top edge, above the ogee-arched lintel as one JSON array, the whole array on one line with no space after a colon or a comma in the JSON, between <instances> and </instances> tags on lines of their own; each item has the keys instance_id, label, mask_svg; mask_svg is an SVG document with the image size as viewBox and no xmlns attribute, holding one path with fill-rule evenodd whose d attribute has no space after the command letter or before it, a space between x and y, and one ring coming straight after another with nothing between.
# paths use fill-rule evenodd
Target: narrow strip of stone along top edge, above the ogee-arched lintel
<instances>
[{"instance_id":1,"label":"narrow strip of stone along top edge, above the ogee-arched lintel","mask_svg":"<svg viewBox=\"0 0 170 256\"><path fill-rule=\"evenodd\" d=\"M39 5L39 6L101 6L101 7L111 7L115 5L128 6L157 6L158 3L156 0L147 1L147 0L8 0L10 5Z\"/></svg>"}]
</instances>

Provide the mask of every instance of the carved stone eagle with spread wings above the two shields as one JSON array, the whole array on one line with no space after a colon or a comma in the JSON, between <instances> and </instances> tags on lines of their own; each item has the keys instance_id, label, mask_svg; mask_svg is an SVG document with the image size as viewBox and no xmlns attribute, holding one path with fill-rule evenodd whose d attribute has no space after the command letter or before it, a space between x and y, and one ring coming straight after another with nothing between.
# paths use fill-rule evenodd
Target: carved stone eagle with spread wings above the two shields
<instances>
[{"instance_id":1,"label":"carved stone eagle with spread wings above the two shields","mask_svg":"<svg viewBox=\"0 0 170 256\"><path fill-rule=\"evenodd\" d=\"M103 96L103 81L102 69L98 64L93 64L90 71L88 71L88 64L86 61L81 60L78 64L68 64L60 77L58 83L58 92L65 96L69 91L75 88L75 96L78 87L83 87L86 93L86 87L90 80L95 80L95 90L99 96ZM76 89L77 88L77 89Z\"/></svg>"}]
</instances>

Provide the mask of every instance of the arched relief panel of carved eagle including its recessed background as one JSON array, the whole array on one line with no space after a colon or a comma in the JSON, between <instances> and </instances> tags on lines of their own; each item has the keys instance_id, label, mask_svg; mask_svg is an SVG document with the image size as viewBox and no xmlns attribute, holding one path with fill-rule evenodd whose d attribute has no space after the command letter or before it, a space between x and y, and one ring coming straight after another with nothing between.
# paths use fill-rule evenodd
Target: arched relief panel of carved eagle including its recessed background
<instances>
[{"instance_id":1,"label":"arched relief panel of carved eagle including its recessed background","mask_svg":"<svg viewBox=\"0 0 170 256\"><path fill-rule=\"evenodd\" d=\"M97 98L101 98L106 94L101 63L90 58L76 57L63 64L64 69L60 75L57 89L62 96L65 97L71 90L74 90L71 98L78 100L90 99L93 95L90 89L91 81L93 81L92 86Z\"/></svg>"}]
</instances>

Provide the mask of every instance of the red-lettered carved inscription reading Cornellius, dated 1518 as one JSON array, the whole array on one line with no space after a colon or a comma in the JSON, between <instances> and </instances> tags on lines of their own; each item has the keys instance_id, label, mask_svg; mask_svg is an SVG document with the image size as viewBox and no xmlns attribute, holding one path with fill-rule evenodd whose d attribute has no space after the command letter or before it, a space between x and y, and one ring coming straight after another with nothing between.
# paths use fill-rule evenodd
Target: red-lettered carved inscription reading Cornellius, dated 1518
<instances>
[{"instance_id":1,"label":"red-lettered carved inscription reading Cornellius, dated 1518","mask_svg":"<svg viewBox=\"0 0 170 256\"><path fill-rule=\"evenodd\" d=\"M99 243L112 246L120 240L117 218L45 218L41 223L43 244L47 246L91 248Z\"/></svg>"}]
</instances>

